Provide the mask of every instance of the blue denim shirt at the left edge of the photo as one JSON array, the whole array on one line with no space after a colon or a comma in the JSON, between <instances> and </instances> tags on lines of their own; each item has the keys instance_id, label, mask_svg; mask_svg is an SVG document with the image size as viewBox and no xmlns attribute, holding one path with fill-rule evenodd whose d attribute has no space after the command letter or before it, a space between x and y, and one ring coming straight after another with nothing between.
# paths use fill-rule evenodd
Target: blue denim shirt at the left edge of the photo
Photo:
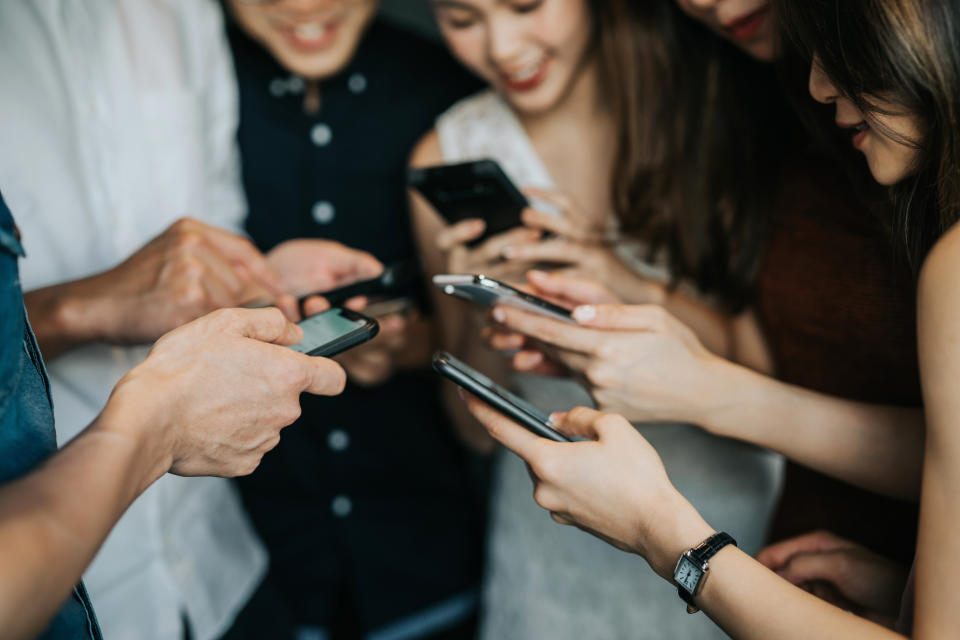
<instances>
[{"instance_id":1,"label":"blue denim shirt at the left edge of the photo","mask_svg":"<svg viewBox=\"0 0 960 640\"><path fill-rule=\"evenodd\" d=\"M50 383L20 290L17 260L23 255L13 216L0 195L0 484L28 473L57 449ZM40 637L100 638L82 584Z\"/></svg>"}]
</instances>

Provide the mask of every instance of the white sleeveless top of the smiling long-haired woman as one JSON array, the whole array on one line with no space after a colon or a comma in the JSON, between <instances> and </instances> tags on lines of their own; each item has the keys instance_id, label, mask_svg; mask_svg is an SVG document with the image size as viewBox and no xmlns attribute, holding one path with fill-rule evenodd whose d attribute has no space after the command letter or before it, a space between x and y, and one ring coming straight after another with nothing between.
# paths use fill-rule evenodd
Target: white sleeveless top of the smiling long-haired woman
<instances>
[{"instance_id":1,"label":"white sleeveless top of the smiling long-haired woman","mask_svg":"<svg viewBox=\"0 0 960 640\"><path fill-rule=\"evenodd\" d=\"M521 188L555 189L532 141L493 91L460 102L437 121L445 162L492 158ZM517 376L514 386L548 410L591 406L571 380ZM644 425L671 480L714 526L757 551L779 494L782 459L689 425ZM701 464L689 465L690 460ZM491 494L481 637L592 640L725 638L705 616L689 616L646 562L554 523L531 497L523 461L499 456Z\"/></svg>"}]
</instances>

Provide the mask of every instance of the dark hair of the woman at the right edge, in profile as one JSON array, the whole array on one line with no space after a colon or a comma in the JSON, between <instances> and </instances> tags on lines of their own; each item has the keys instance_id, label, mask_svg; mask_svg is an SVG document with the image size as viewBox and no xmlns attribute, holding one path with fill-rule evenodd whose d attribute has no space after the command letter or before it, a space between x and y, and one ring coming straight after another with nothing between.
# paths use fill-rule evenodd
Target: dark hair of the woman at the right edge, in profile
<instances>
[{"instance_id":1,"label":"dark hair of the woman at the right edge, in profile","mask_svg":"<svg viewBox=\"0 0 960 640\"><path fill-rule=\"evenodd\" d=\"M871 126L918 151L913 176L892 187L897 243L915 271L960 219L960 2L778 0L789 39ZM877 100L922 122L922 139L885 131Z\"/></svg>"}]
</instances>

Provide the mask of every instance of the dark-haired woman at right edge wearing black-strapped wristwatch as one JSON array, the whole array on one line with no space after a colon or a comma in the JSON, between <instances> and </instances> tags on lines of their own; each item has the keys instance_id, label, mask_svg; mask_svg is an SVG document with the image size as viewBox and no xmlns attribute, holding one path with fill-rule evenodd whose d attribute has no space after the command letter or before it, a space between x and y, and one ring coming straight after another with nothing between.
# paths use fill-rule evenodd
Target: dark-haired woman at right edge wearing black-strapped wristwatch
<instances>
[{"instance_id":1,"label":"dark-haired woman at right edge wearing black-strapped wristwatch","mask_svg":"<svg viewBox=\"0 0 960 640\"><path fill-rule=\"evenodd\" d=\"M960 407L954 391L960 375L960 294L955 287L960 270L960 232L955 229L960 205L960 6L947 1L783 0L779 7L791 38L813 54L811 93L835 107L837 124L850 133L873 177L891 186L898 202L890 227L898 231L913 264L923 265L918 284L923 446L915 445L916 434L908 429L891 430L879 441L854 431L842 434L840 442L808 438L807 453L832 460L838 475L879 466L876 476L886 472L891 489L899 486L905 495L920 495L913 637L950 637L960 615L951 584L960 570L953 499L960 491ZM645 322L652 333L676 326L662 310L650 307L630 311L588 305L574 314L590 325L611 312L620 323ZM677 357L710 366L695 336L687 330L676 333ZM730 406L738 401L730 400ZM471 408L498 440L531 465L537 500L555 520L642 555L662 577L677 581L690 611L702 608L730 635L899 637L793 587L737 551L673 487L656 453L622 417L589 409L555 416L566 431L587 438L560 445L531 436L477 402ZM922 492L919 473L904 473L921 465ZM853 573L850 581L870 581L869 575L857 574L855 565L847 568ZM913 601L908 593L905 604ZM903 632L909 632L909 608L898 623Z\"/></svg>"}]
</instances>

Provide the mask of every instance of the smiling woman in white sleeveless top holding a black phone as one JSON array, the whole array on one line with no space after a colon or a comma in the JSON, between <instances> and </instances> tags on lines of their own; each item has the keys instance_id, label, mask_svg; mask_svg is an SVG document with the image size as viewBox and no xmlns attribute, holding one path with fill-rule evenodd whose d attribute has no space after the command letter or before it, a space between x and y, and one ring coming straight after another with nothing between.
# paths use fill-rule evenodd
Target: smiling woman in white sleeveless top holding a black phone
<instances>
[{"instance_id":1,"label":"smiling woman in white sleeveless top holding a black phone","mask_svg":"<svg viewBox=\"0 0 960 640\"><path fill-rule=\"evenodd\" d=\"M637 277L639 260L625 257L631 245L610 242L626 213L618 209L627 200L622 193L629 176L617 167L639 162L635 154L644 133L630 118L630 110L639 108L644 84L627 81L643 72L642 25L631 4L435 0L451 50L491 89L441 116L415 150L412 164L493 158L533 202L547 201L561 215L529 209L524 214L529 227L468 249L466 243L482 233L482 225L467 221L448 227L414 197L414 220L429 271L513 278L546 257L605 282L624 299L663 297L663 285ZM559 235L537 243L537 229ZM535 254L530 262L504 260L518 247ZM482 315L456 301L438 297L436 303L445 346L479 369L506 378L502 356L481 344ZM696 313L712 313L704 305L694 306ZM709 337L704 341L709 343ZM573 380L523 375L511 383L548 411L590 404L587 391ZM482 428L464 415L462 403L448 406L462 418L458 423L465 439L492 449ZM722 523L742 547L760 548L779 491L777 456L687 426L644 425L641 432L683 493L711 514L710 521ZM707 451L707 464L696 469L684 464ZM501 457L492 494L484 638L659 639L668 637L679 620L689 632L686 637L723 637L706 621L696 625L685 620L675 600L676 594L638 562L578 531L553 525L530 495L522 461Z\"/></svg>"}]
</instances>

